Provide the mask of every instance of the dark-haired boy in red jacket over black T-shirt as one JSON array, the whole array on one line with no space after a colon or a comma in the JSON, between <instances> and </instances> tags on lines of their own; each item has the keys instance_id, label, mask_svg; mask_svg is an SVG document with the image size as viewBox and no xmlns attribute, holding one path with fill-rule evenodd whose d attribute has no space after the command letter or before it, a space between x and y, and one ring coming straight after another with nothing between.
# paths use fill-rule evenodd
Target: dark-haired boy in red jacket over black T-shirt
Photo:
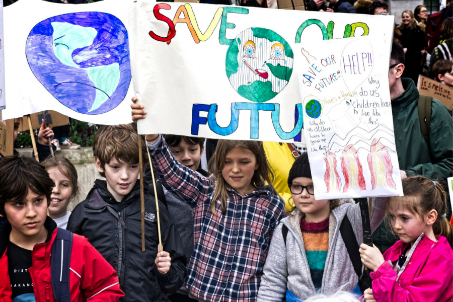
<instances>
[{"instance_id":1,"label":"dark-haired boy in red jacket over black T-shirt","mask_svg":"<svg viewBox=\"0 0 453 302\"><path fill-rule=\"evenodd\" d=\"M0 215L8 219L0 230L0 301L55 301L51 249L64 231L47 216L54 183L34 159L6 157L0 184ZM78 235L72 237L69 289L67 301L118 301L124 295L115 270Z\"/></svg>"}]
</instances>

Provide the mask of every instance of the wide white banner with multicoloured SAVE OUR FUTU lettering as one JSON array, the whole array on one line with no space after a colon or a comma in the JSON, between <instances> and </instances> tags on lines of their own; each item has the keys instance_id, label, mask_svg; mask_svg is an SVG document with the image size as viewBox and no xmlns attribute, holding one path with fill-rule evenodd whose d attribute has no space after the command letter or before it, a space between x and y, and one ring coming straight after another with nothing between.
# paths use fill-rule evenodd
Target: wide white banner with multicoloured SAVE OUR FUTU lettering
<instances>
[{"instance_id":1,"label":"wide white banner with multicoloured SAVE OUR FUTU lettering","mask_svg":"<svg viewBox=\"0 0 453 302\"><path fill-rule=\"evenodd\" d=\"M394 26L393 16L146 0L133 2L129 20L134 89L147 111L140 134L281 142L305 140L303 49L362 35L390 41ZM388 50L377 60L387 64Z\"/></svg>"}]
</instances>

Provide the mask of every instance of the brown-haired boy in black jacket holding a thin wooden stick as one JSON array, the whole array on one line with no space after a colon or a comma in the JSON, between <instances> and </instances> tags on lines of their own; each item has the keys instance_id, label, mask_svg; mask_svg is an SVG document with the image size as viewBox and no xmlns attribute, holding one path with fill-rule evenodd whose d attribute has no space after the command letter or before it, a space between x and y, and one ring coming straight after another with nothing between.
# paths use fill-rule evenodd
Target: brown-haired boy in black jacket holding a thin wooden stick
<instances>
[{"instance_id":1,"label":"brown-haired boy in black jacket holding a thin wooden stick","mask_svg":"<svg viewBox=\"0 0 453 302\"><path fill-rule=\"evenodd\" d=\"M140 139L142 139L140 137ZM145 146L145 142L142 143ZM156 201L145 192L145 252L141 251L138 136L132 125L102 126L93 143L96 180L72 211L67 230L85 236L118 273L123 301L168 301L186 275L181 239L160 204L163 251L158 253ZM146 191L146 186L145 186ZM161 249L162 250L162 249Z\"/></svg>"}]
</instances>

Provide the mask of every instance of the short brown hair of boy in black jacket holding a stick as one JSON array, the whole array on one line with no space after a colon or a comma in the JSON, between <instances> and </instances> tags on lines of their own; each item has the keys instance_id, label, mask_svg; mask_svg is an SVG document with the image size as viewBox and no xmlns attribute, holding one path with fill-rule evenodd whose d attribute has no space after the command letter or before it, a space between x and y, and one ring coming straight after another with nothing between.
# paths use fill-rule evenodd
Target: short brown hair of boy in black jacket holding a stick
<instances>
[{"instance_id":1,"label":"short brown hair of boy in black jacket holding a stick","mask_svg":"<svg viewBox=\"0 0 453 302\"><path fill-rule=\"evenodd\" d=\"M140 135L141 146L146 153L146 143ZM121 163L138 164L138 134L131 124L101 126L96 131L93 141L93 155L97 157L104 169L112 158ZM100 173L105 177L105 173Z\"/></svg>"}]
</instances>

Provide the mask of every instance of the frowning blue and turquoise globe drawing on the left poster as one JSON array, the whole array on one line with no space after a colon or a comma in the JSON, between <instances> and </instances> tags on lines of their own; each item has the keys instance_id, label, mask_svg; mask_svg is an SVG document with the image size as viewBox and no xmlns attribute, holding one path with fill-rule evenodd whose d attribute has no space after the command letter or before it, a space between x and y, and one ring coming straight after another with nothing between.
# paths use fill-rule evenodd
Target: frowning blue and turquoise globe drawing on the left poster
<instances>
[{"instance_id":1,"label":"frowning blue and turquoise globe drawing on the left poster","mask_svg":"<svg viewBox=\"0 0 453 302\"><path fill-rule=\"evenodd\" d=\"M127 30L110 14L83 12L46 19L31 30L26 55L38 81L79 113L108 112L129 88Z\"/></svg>"}]
</instances>

